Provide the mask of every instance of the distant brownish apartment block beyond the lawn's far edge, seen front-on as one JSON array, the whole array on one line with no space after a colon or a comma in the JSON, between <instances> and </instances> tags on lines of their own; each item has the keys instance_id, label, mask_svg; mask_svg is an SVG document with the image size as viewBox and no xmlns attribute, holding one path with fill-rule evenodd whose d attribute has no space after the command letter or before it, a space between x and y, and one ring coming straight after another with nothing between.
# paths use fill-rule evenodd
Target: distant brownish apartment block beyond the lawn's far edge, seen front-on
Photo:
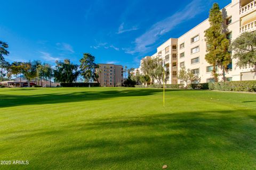
<instances>
[{"instance_id":1,"label":"distant brownish apartment block beyond the lawn's far edge, seen front-on","mask_svg":"<svg viewBox=\"0 0 256 170\"><path fill-rule=\"evenodd\" d=\"M115 64L99 64L100 86L121 87L123 84L123 66Z\"/></svg>"}]
</instances>

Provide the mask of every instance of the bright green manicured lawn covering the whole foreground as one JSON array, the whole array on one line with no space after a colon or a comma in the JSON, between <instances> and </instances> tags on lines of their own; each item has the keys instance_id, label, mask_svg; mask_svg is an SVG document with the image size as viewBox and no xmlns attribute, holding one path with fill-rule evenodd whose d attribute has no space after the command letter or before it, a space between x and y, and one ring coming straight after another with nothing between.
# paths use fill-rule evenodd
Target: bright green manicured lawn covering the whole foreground
<instances>
[{"instance_id":1,"label":"bright green manicured lawn covering the whole foreground","mask_svg":"<svg viewBox=\"0 0 256 170\"><path fill-rule=\"evenodd\" d=\"M0 169L256 169L256 94L0 89Z\"/></svg>"}]
</instances>

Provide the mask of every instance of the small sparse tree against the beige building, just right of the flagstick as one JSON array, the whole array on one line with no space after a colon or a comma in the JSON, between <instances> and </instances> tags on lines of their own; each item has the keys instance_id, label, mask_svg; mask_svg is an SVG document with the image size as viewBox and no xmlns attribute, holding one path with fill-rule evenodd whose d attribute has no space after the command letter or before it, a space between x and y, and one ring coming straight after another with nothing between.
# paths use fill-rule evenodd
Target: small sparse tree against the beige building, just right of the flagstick
<instances>
[{"instance_id":1,"label":"small sparse tree against the beige building, just right of the flagstick","mask_svg":"<svg viewBox=\"0 0 256 170\"><path fill-rule=\"evenodd\" d=\"M178 73L178 79L179 80L182 80L182 81L185 81L186 82L186 86L188 87L189 84L197 81L199 82L201 79L198 77L197 74L194 74L193 71L191 71L190 69L187 69L185 67L182 67L180 70L179 70L179 73Z\"/></svg>"}]
</instances>

